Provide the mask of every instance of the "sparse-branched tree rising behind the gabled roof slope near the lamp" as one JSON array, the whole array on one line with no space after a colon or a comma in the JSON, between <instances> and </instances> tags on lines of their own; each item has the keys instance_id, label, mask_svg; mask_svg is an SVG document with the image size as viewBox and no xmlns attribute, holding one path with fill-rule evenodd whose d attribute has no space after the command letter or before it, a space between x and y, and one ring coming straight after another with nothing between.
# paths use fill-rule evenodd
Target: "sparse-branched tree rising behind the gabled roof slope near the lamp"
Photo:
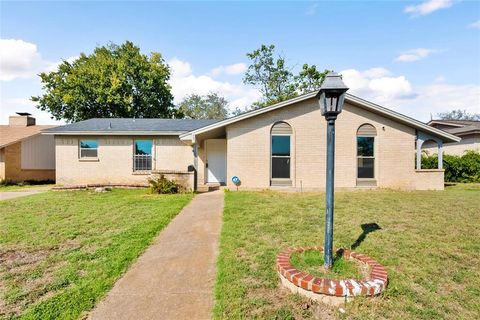
<instances>
[{"instance_id":1,"label":"sparse-branched tree rising behind the gabled roof slope near the lamp","mask_svg":"<svg viewBox=\"0 0 480 320\"><path fill-rule=\"evenodd\" d=\"M294 75L285 58L275 53L274 45L262 45L247 57L251 60L243 82L260 90L262 98L253 108L265 107L283 100L318 90L328 70L320 72L315 65L304 64Z\"/></svg>"}]
</instances>

